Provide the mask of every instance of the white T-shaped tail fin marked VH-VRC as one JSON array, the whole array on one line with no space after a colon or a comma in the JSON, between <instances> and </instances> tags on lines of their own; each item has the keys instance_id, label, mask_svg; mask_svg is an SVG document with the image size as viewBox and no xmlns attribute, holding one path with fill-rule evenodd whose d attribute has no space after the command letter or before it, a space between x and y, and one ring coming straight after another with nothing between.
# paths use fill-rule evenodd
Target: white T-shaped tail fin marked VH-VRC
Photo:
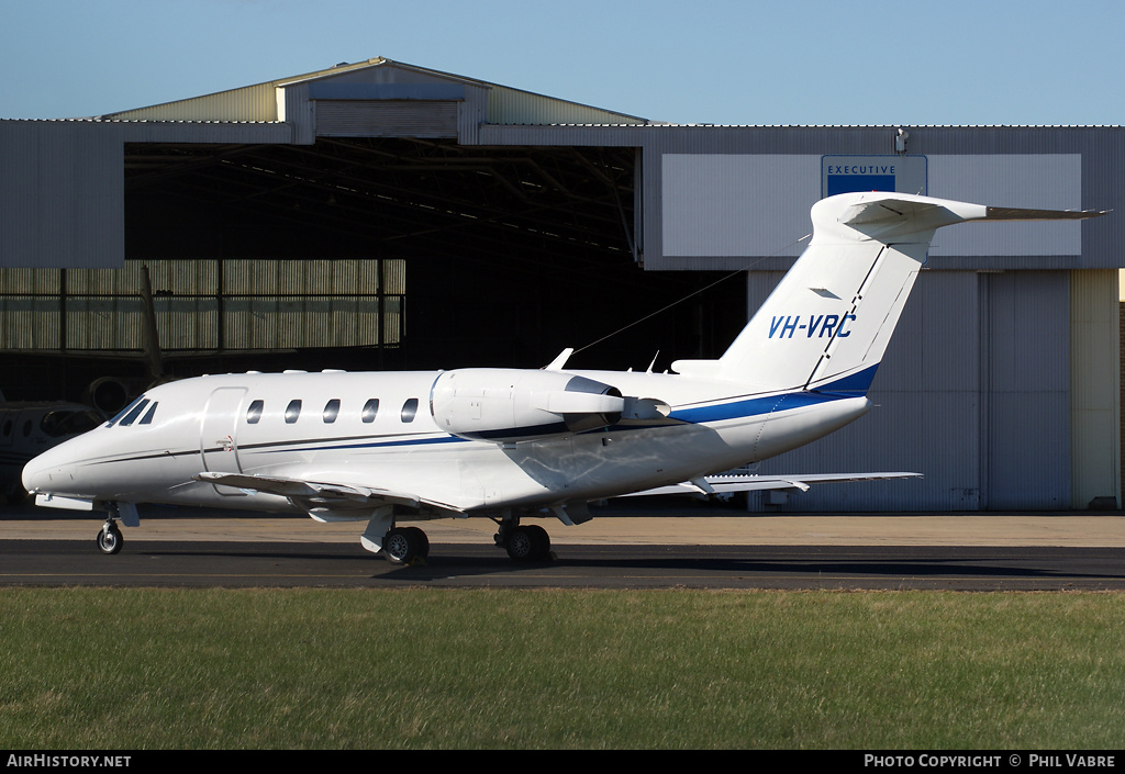
<instances>
[{"instance_id":1,"label":"white T-shaped tail fin marked VH-VRC","mask_svg":"<svg viewBox=\"0 0 1125 774\"><path fill-rule=\"evenodd\" d=\"M812 241L719 360L673 369L764 389L864 394L942 226L1082 219L1102 213L1011 209L908 194L840 194L812 207Z\"/></svg>"}]
</instances>

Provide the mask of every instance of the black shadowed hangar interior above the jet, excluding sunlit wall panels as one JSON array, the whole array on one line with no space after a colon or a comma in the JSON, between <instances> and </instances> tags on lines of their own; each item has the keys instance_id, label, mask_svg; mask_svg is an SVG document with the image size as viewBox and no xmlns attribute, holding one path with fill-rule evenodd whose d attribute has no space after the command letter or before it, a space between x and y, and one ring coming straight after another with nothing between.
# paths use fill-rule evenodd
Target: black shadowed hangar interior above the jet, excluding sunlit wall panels
<instances>
[{"instance_id":1,"label":"black shadowed hangar interior above the jet, excluding sunlit wall panels","mask_svg":"<svg viewBox=\"0 0 1125 774\"><path fill-rule=\"evenodd\" d=\"M263 270L345 259L405 272L396 289L399 327L382 341L372 333L335 345L238 346L245 338L231 328L241 323L219 314L215 354L226 370L536 368L672 304L570 364L646 368L657 350L658 369L676 358L716 357L745 323L742 282L732 278L676 304L720 276L638 266L637 165L632 147L367 137L309 146L130 144L126 259L252 260ZM154 290L158 303L178 294Z\"/></svg>"}]
</instances>

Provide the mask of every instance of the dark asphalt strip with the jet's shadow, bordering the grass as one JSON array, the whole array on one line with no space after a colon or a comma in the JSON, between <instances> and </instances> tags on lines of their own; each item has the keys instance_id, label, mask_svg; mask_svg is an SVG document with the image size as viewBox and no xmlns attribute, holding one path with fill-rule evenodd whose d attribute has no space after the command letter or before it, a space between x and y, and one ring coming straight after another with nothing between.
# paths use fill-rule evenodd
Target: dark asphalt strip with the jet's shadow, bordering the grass
<instances>
[{"instance_id":1,"label":"dark asphalt strip with the jet's shadow, bordering the grass","mask_svg":"<svg viewBox=\"0 0 1125 774\"><path fill-rule=\"evenodd\" d=\"M64 573L51 575L93 575L120 573L145 575L153 570L152 559L162 560L161 574L216 580L236 576L270 577L287 583L291 577L322 577L333 585L362 582L415 583L448 582L457 578L482 579L493 576L498 583L536 585L552 582L574 585L621 585L630 578L646 583L675 584L677 576L722 584L738 579L755 582L802 580L818 585L832 579L886 580L1028 580L1065 583L1104 582L1125 584L1125 549L951 549L938 547L862 549L862 557L842 559L832 549L808 551L793 547L644 547L598 546L556 548L549 561L515 562L505 552L488 544L435 546L428 561L394 565L359 546L341 543L164 543L133 542L118 555L105 557L87 541L19 541L21 560L39 557L36 572L50 570L51 555L60 554ZM92 541L90 541L92 543ZM60 551L60 549L63 549ZM855 554L855 548L847 549ZM720 555L709 555L717 551ZM911 556L902 556L908 552ZM78 560L76 560L78 559Z\"/></svg>"}]
</instances>

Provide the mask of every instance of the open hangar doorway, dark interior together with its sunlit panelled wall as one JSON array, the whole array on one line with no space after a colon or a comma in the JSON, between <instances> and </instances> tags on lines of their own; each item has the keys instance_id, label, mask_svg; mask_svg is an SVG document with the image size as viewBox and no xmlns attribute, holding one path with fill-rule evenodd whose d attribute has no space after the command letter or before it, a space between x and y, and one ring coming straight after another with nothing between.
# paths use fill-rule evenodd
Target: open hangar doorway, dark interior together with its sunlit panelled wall
<instances>
[{"instance_id":1,"label":"open hangar doorway, dark interior together with its sunlit panelled wall","mask_svg":"<svg viewBox=\"0 0 1125 774\"><path fill-rule=\"evenodd\" d=\"M639 153L128 143L125 267L42 270L19 290L51 330L0 354L21 375L4 393L112 411L151 384L144 268L164 377L540 368L567 346L572 368L717 357L745 324L745 282L639 266Z\"/></svg>"}]
</instances>

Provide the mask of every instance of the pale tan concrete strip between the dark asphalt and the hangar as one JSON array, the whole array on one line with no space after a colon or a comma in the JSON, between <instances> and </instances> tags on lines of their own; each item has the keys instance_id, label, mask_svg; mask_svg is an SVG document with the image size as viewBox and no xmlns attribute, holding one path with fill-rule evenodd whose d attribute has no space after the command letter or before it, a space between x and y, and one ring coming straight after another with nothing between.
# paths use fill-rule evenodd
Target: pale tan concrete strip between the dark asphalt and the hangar
<instances>
[{"instance_id":1,"label":"pale tan concrete strip between the dark asphalt and the hangar","mask_svg":"<svg viewBox=\"0 0 1125 774\"><path fill-rule=\"evenodd\" d=\"M490 543L496 525L487 519L415 522L430 542ZM1050 514L843 514L789 515L717 511L633 513L598 516L565 526L540 523L555 546L1066 546L1125 547L1125 515L1059 512ZM56 511L24 508L0 514L7 540L92 540L97 518L58 516ZM124 528L126 542L206 540L233 542L358 542L362 522L322 524L302 516L191 511L142 511L141 526Z\"/></svg>"}]
</instances>

